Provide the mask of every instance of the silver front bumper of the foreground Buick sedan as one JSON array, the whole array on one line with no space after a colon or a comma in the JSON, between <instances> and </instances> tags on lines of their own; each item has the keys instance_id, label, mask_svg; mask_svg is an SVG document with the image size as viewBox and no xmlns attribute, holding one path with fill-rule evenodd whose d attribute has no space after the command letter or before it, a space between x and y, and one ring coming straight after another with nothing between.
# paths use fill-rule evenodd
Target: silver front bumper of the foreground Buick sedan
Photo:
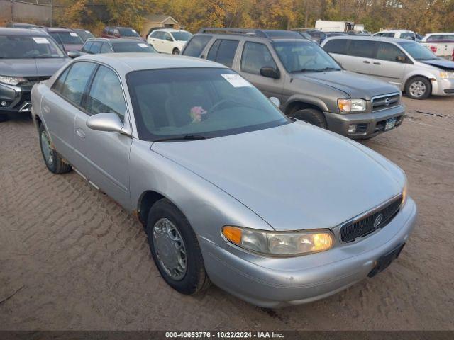
<instances>
[{"instance_id":1,"label":"silver front bumper of the foreground Buick sedan","mask_svg":"<svg viewBox=\"0 0 454 340\"><path fill-rule=\"evenodd\" d=\"M328 297L367 277L380 256L406 242L417 208L408 198L388 225L358 242L293 258L250 254L201 238L206 272L220 288L261 307L298 305Z\"/></svg>"}]
</instances>

